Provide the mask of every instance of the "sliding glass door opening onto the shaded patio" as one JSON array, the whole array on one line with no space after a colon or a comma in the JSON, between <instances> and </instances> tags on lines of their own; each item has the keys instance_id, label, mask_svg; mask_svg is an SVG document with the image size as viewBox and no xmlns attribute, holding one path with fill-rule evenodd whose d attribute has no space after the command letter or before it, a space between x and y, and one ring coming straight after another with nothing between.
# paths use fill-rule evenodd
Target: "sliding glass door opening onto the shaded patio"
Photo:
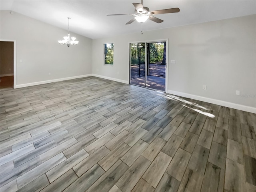
<instances>
[{"instance_id":1,"label":"sliding glass door opening onto the shaded patio","mask_svg":"<svg viewBox=\"0 0 256 192\"><path fill-rule=\"evenodd\" d=\"M130 43L130 84L166 92L166 41Z\"/></svg>"}]
</instances>

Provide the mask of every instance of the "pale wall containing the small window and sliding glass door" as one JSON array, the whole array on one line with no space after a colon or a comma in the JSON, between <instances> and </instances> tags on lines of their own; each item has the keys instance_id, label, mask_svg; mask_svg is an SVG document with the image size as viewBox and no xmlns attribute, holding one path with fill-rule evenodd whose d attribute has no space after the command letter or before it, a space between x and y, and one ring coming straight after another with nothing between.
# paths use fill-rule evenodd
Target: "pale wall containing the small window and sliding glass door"
<instances>
[{"instance_id":1,"label":"pale wall containing the small window and sliding glass door","mask_svg":"<svg viewBox=\"0 0 256 192\"><path fill-rule=\"evenodd\" d=\"M128 82L129 42L169 39L169 93L239 109L248 106L249 111L256 112L256 15L143 35L139 31L93 40L92 73ZM110 42L114 43L114 66L104 66L102 44ZM176 64L170 64L170 60L176 60ZM236 90L240 90L240 96Z\"/></svg>"}]
</instances>

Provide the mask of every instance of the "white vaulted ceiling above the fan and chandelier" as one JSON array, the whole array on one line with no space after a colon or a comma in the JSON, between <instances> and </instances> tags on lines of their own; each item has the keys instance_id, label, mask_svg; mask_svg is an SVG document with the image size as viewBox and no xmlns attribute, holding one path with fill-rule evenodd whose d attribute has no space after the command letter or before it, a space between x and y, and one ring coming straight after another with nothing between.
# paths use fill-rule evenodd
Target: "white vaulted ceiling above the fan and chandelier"
<instances>
[{"instance_id":1,"label":"white vaulted ceiling above the fan and chandelier","mask_svg":"<svg viewBox=\"0 0 256 192\"><path fill-rule=\"evenodd\" d=\"M133 14L133 2L140 0L1 0L1 10L12 10L42 22L66 29L70 17L70 31L95 39L120 34L140 33L141 24L125 25L133 16L106 16ZM164 20L157 24L150 20L143 30L202 23L226 18L256 14L255 0L144 0L150 11L180 8L179 13L158 14Z\"/></svg>"}]
</instances>

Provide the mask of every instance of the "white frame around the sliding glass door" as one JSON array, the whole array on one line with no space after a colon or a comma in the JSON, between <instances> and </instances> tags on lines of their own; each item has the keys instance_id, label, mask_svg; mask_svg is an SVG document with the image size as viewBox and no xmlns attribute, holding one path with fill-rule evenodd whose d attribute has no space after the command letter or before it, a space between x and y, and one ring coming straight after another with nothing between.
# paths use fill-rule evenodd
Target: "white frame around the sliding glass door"
<instances>
[{"instance_id":1,"label":"white frame around the sliding glass door","mask_svg":"<svg viewBox=\"0 0 256 192\"><path fill-rule=\"evenodd\" d=\"M145 43L145 46L147 43L157 43L157 42L166 42L166 50L165 50L165 92L167 93L168 92L168 55L169 55L169 39L157 39L157 40L141 40L141 41L132 41L132 42L128 42L128 47L129 47L129 63L128 63L128 82L130 84L130 77L131 77L131 72L130 72L130 44L133 44L133 43ZM148 57L148 54L147 54L147 50L146 50L146 59ZM145 60L146 62L146 60ZM146 63L145 63L145 82L146 82ZM146 87L146 86L145 86Z\"/></svg>"}]
</instances>

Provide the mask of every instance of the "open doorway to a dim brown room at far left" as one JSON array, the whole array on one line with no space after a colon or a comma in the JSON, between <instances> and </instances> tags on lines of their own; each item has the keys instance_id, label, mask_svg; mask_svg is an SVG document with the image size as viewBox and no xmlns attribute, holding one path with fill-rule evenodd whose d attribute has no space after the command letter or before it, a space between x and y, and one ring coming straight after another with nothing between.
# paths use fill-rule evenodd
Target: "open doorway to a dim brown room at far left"
<instances>
[{"instance_id":1,"label":"open doorway to a dim brown room at far left","mask_svg":"<svg viewBox=\"0 0 256 192\"><path fill-rule=\"evenodd\" d=\"M14 88L15 41L0 41L0 88Z\"/></svg>"}]
</instances>

